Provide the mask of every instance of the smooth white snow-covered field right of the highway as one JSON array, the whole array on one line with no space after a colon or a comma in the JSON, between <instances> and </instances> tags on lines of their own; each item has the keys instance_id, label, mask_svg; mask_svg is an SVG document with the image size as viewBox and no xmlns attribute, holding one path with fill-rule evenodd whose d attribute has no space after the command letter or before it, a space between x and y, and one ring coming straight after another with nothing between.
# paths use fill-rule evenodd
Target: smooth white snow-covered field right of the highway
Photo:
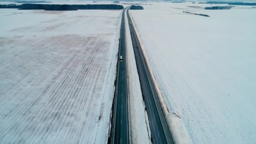
<instances>
[{"instance_id":1,"label":"smooth white snow-covered field right of the highway","mask_svg":"<svg viewBox=\"0 0 256 144\"><path fill-rule=\"evenodd\" d=\"M184 125L172 131L198 144L256 143L256 9L144 4L130 12L170 115Z\"/></svg>"}]
</instances>

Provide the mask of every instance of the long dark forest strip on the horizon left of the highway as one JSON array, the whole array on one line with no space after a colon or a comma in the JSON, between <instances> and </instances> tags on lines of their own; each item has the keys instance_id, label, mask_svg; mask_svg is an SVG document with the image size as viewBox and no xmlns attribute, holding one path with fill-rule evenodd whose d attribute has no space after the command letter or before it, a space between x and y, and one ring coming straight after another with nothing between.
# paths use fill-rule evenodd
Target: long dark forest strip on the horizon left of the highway
<instances>
[{"instance_id":1,"label":"long dark forest strip on the horizon left of the highway","mask_svg":"<svg viewBox=\"0 0 256 144\"><path fill-rule=\"evenodd\" d=\"M123 5L51 5L51 4L31 4L22 5L9 4L0 5L0 8L18 8L19 10L45 10L45 11L77 11L77 10L122 10Z\"/></svg>"}]
</instances>

